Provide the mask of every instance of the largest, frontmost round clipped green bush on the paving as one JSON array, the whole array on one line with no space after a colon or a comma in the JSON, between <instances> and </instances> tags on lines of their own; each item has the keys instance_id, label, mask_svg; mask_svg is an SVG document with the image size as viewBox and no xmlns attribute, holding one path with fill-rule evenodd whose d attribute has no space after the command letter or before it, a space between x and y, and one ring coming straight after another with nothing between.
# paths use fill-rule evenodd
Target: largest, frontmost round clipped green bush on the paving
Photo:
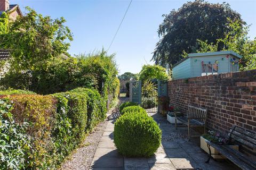
<instances>
[{"instance_id":1,"label":"largest, frontmost round clipped green bush on the paving","mask_svg":"<svg viewBox=\"0 0 256 170\"><path fill-rule=\"evenodd\" d=\"M124 114L114 127L114 142L127 157L150 157L161 145L162 131L152 117L137 112Z\"/></svg>"}]
</instances>

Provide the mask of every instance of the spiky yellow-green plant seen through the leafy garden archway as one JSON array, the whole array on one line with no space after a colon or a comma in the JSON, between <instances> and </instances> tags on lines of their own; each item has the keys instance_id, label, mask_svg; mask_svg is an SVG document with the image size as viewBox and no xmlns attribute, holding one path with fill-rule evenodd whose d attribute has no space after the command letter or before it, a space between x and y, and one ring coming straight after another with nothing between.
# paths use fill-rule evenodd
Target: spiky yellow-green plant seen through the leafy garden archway
<instances>
[{"instance_id":1,"label":"spiky yellow-green plant seen through the leafy garden archway","mask_svg":"<svg viewBox=\"0 0 256 170\"><path fill-rule=\"evenodd\" d=\"M157 96L157 84L150 81L145 80L143 82L143 86L141 88L142 97L156 97Z\"/></svg>"}]
</instances>

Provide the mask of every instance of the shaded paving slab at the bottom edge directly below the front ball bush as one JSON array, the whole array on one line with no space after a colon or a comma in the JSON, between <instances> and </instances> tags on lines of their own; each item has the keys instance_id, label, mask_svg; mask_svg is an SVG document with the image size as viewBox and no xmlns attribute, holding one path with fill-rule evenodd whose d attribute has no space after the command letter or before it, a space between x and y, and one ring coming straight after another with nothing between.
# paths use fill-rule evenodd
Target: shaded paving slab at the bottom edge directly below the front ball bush
<instances>
[{"instance_id":1,"label":"shaded paving slab at the bottom edge directly below the front ball bush","mask_svg":"<svg viewBox=\"0 0 256 170\"><path fill-rule=\"evenodd\" d=\"M124 158L124 169L149 168L147 158Z\"/></svg>"}]
</instances>

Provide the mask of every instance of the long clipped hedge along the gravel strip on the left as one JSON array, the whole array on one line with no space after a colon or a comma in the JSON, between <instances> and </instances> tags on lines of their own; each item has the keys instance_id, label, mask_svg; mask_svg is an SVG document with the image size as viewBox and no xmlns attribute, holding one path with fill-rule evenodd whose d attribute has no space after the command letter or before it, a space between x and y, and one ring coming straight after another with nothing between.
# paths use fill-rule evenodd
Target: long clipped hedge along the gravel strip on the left
<instances>
[{"instance_id":1,"label":"long clipped hedge along the gravel strip on the left","mask_svg":"<svg viewBox=\"0 0 256 170\"><path fill-rule=\"evenodd\" d=\"M0 152L8 155L0 154L3 169L57 169L107 111L99 92L85 88L46 96L2 95L0 108ZM2 147L10 143L11 148Z\"/></svg>"}]
</instances>

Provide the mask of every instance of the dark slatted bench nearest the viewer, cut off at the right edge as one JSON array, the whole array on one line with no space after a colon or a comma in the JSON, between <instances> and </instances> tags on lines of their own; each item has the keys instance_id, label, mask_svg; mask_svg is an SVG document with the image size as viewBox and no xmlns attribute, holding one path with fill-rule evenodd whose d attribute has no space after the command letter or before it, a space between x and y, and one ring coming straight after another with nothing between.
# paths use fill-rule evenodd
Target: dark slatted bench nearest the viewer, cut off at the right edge
<instances>
[{"instance_id":1,"label":"dark slatted bench nearest the viewer, cut off at the right edge","mask_svg":"<svg viewBox=\"0 0 256 170\"><path fill-rule=\"evenodd\" d=\"M228 143L233 139L235 142L237 142L239 145L242 145L243 147L252 150L252 154L256 152L256 135L255 132L248 132L245 131L242 128L239 128L238 126L234 125L227 136ZM243 170L255 170L256 169L256 161L251 160L248 156L243 154L242 152L239 152L235 149L232 149L229 145L217 145L215 143L207 141L207 147L209 149L209 158L205 163L209 163L211 155L211 147L218 150L218 155L223 155L227 159L229 159L231 162L233 162L235 165L237 165L239 168Z\"/></svg>"}]
</instances>

